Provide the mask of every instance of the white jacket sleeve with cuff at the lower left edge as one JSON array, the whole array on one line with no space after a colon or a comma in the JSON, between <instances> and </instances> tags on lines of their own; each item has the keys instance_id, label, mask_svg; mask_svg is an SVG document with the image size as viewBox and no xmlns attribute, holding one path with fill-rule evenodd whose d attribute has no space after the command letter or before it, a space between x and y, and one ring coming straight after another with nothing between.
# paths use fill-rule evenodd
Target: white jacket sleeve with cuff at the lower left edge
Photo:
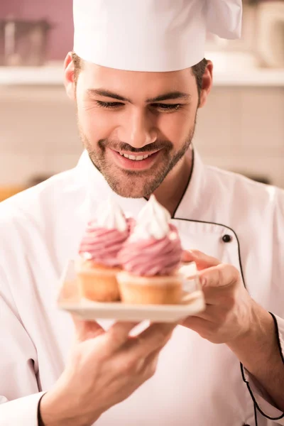
<instances>
[{"instance_id":1,"label":"white jacket sleeve with cuff at the lower left edge","mask_svg":"<svg viewBox=\"0 0 284 426\"><path fill-rule=\"evenodd\" d=\"M38 426L36 351L0 270L0 426ZM28 396L26 396L28 395Z\"/></svg>"}]
</instances>

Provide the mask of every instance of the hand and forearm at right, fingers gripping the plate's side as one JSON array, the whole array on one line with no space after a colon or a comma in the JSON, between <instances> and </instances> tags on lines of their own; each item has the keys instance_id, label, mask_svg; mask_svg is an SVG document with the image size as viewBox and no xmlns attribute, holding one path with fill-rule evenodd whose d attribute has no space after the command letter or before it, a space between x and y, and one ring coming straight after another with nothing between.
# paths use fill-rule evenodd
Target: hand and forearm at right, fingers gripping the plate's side
<instances>
[{"instance_id":1,"label":"hand and forearm at right, fingers gripping the plate's side","mask_svg":"<svg viewBox=\"0 0 284 426\"><path fill-rule=\"evenodd\" d=\"M198 251L185 253L185 261L195 261L200 269L207 307L182 324L212 343L229 346L243 364L258 410L284 425L284 320L276 322L250 297L234 266Z\"/></svg>"}]
</instances>

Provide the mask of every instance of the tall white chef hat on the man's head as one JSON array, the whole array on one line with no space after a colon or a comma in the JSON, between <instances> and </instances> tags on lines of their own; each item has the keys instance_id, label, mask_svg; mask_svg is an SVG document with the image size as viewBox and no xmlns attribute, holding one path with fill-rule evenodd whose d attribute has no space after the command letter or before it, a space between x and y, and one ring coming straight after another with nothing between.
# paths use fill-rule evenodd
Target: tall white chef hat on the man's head
<instances>
[{"instance_id":1,"label":"tall white chef hat on the man's head","mask_svg":"<svg viewBox=\"0 0 284 426\"><path fill-rule=\"evenodd\" d=\"M104 67L175 71L204 58L207 31L241 35L241 0L73 0L74 51Z\"/></svg>"}]
</instances>

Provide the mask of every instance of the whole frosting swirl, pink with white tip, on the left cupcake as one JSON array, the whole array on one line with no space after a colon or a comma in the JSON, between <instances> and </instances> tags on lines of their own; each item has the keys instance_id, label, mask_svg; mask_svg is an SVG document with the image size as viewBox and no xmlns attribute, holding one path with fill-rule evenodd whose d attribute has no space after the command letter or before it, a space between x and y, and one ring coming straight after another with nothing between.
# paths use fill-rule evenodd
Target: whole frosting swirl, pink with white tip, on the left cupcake
<instances>
[{"instance_id":1,"label":"whole frosting swirl, pink with white tip, on the left cupcake","mask_svg":"<svg viewBox=\"0 0 284 426\"><path fill-rule=\"evenodd\" d=\"M88 223L80 244L80 256L105 266L119 266L118 254L133 228L113 201L99 206L97 219Z\"/></svg>"}]
</instances>

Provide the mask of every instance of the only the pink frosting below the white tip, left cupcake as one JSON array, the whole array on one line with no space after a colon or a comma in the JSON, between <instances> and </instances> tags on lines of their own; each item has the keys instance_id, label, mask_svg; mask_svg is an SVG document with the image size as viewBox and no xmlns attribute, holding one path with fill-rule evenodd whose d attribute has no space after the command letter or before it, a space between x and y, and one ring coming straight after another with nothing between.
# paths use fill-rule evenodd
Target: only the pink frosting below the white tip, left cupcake
<instances>
[{"instance_id":1,"label":"only the pink frosting below the white tip, left cupcake","mask_svg":"<svg viewBox=\"0 0 284 426\"><path fill-rule=\"evenodd\" d=\"M80 245L80 255L101 265L119 266L119 251L135 224L133 219L126 221L128 228L123 232L118 229L100 228L95 220L89 222Z\"/></svg>"}]
</instances>

